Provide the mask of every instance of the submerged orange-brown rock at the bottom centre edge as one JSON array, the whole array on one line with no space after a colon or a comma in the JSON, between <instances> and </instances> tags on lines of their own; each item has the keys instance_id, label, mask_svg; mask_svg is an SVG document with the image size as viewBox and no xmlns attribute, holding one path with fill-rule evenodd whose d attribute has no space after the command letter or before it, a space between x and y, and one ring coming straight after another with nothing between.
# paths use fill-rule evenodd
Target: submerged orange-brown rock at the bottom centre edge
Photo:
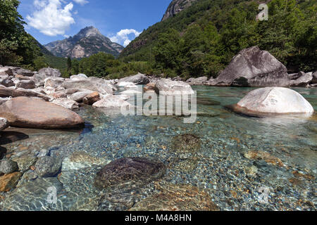
<instances>
[{"instance_id":1,"label":"submerged orange-brown rock at the bottom centre edge","mask_svg":"<svg viewBox=\"0 0 317 225\"><path fill-rule=\"evenodd\" d=\"M190 185L157 185L160 191L139 203L130 211L219 211L208 193Z\"/></svg>"}]
</instances>

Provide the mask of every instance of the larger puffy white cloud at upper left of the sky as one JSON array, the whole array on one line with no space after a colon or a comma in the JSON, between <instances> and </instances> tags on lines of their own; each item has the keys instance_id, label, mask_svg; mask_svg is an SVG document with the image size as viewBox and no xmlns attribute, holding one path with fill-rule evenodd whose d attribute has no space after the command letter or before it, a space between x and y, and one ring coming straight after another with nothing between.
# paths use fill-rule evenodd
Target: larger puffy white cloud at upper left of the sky
<instances>
[{"instance_id":1,"label":"larger puffy white cloud at upper left of the sky","mask_svg":"<svg viewBox=\"0 0 317 225\"><path fill-rule=\"evenodd\" d=\"M75 23L71 11L73 3L62 6L63 0L35 0L36 11L27 15L28 25L48 36L65 34Z\"/></svg>"}]
</instances>

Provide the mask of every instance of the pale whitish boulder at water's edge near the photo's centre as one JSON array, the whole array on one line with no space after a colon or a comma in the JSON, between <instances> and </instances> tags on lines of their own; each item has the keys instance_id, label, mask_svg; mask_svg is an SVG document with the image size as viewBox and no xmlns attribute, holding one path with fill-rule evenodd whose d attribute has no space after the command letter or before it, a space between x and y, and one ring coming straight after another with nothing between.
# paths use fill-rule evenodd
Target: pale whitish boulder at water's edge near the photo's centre
<instances>
[{"instance_id":1,"label":"pale whitish boulder at water's edge near the photo's centre","mask_svg":"<svg viewBox=\"0 0 317 225\"><path fill-rule=\"evenodd\" d=\"M156 82L154 89L157 94L164 96L194 94L189 84L172 81L170 79L160 79L159 82Z\"/></svg>"}]
</instances>

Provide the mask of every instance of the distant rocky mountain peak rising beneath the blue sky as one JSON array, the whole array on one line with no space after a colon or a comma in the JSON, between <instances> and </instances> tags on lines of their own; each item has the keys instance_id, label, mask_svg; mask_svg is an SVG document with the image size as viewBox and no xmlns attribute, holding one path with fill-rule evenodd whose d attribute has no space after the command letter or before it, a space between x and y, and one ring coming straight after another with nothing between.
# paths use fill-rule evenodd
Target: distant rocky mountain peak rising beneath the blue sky
<instances>
[{"instance_id":1,"label":"distant rocky mountain peak rising beneath the blue sky","mask_svg":"<svg viewBox=\"0 0 317 225\"><path fill-rule=\"evenodd\" d=\"M99 52L117 57L124 49L120 44L114 43L102 35L95 27L85 27L74 37L53 41L44 46L54 56L70 58L85 58Z\"/></svg>"}]
</instances>

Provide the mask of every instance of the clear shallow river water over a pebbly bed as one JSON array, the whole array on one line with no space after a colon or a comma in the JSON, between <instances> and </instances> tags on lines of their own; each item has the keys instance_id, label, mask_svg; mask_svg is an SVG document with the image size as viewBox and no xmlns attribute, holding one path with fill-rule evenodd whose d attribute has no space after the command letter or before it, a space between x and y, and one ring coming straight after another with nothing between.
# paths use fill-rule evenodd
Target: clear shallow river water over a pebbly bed
<instances>
[{"instance_id":1,"label":"clear shallow river water over a pebbly bed","mask_svg":"<svg viewBox=\"0 0 317 225\"><path fill-rule=\"evenodd\" d=\"M308 119L244 117L224 106L237 103L252 88L193 88L198 98L194 124L184 124L182 117L175 116L107 116L85 106L77 112L86 122L82 131L5 131L3 136L8 138L1 146L7 158L37 155L43 149L61 158L63 166L56 180L62 186L57 203L49 204L46 188L56 180L36 179L29 186L19 183L10 193L0 193L4 196L0 209L133 210L144 198L159 193L158 184L185 184L208 193L220 210L316 210L316 115ZM316 88L294 90L317 110ZM198 136L200 148L187 155L172 150L173 138L180 134ZM80 159L72 160L74 153ZM107 193L94 187L96 173L123 157L156 158L168 169L161 180L135 189L133 196L130 190L111 190L115 197L101 200ZM268 188L266 203L261 201L263 187Z\"/></svg>"}]
</instances>

